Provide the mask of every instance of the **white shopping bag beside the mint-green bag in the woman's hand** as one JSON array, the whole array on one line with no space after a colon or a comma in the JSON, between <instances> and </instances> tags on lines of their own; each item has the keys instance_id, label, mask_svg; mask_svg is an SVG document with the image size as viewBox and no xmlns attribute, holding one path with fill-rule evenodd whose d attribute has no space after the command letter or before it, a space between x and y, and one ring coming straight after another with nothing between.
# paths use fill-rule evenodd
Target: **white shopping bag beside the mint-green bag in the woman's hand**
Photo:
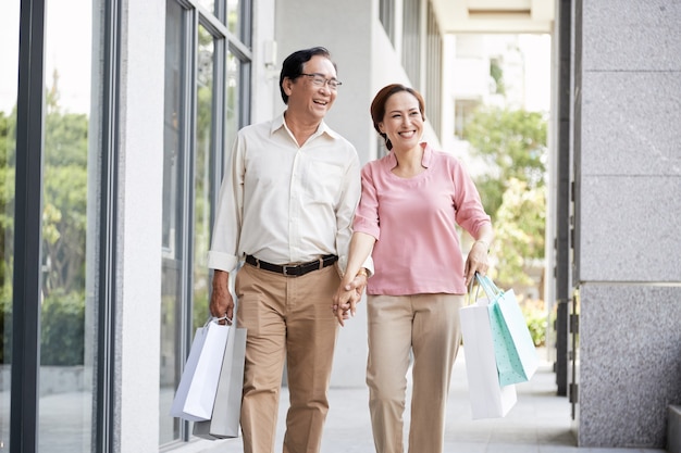
<instances>
[{"instance_id":1,"label":"white shopping bag beside the mint-green bag in the woman's hand","mask_svg":"<svg viewBox=\"0 0 681 453\"><path fill-rule=\"evenodd\" d=\"M518 401L515 385L499 385L487 305L486 298L478 299L459 312L474 419L504 417Z\"/></svg>"}]
</instances>

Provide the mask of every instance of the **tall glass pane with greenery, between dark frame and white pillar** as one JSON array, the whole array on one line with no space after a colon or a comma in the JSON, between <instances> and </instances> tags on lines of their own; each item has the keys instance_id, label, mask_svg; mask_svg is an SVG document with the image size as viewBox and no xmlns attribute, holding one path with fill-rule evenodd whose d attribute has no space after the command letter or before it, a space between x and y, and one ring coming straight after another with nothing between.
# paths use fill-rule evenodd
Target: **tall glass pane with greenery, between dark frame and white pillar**
<instances>
[{"instance_id":1,"label":"tall glass pane with greenery, between dark frame and white pillar","mask_svg":"<svg viewBox=\"0 0 681 453\"><path fill-rule=\"evenodd\" d=\"M91 0L47 3L38 429L48 453L92 451L99 151L89 113L99 46L91 20Z\"/></svg>"}]
</instances>

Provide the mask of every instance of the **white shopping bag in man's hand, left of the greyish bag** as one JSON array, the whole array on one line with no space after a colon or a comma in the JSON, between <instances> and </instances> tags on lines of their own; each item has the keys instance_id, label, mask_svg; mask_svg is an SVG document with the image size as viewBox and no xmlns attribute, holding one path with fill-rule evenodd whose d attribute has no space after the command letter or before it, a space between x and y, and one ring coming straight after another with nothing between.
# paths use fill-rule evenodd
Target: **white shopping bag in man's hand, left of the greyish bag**
<instances>
[{"instance_id":1,"label":"white shopping bag in man's hand, left of the greyish bag","mask_svg":"<svg viewBox=\"0 0 681 453\"><path fill-rule=\"evenodd\" d=\"M213 318L196 329L171 407L173 417L189 421L210 419L230 328Z\"/></svg>"}]
</instances>

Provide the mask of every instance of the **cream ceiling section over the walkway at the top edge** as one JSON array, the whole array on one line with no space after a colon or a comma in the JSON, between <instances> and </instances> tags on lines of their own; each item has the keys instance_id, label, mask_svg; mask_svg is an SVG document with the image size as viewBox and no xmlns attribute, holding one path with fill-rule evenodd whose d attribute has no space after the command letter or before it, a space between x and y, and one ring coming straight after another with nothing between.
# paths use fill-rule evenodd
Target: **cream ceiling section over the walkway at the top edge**
<instances>
[{"instance_id":1,"label":"cream ceiling section over the walkway at the top edge","mask_svg":"<svg viewBox=\"0 0 681 453\"><path fill-rule=\"evenodd\" d=\"M431 0L445 34L552 33L555 0Z\"/></svg>"}]
</instances>

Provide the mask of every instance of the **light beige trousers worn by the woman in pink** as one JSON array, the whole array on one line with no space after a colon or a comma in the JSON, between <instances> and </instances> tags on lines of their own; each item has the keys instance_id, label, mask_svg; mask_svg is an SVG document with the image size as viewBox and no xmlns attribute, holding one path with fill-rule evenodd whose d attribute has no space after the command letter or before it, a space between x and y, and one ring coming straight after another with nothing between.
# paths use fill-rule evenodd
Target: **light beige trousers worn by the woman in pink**
<instances>
[{"instance_id":1,"label":"light beige trousers worn by the woman in pink","mask_svg":"<svg viewBox=\"0 0 681 453\"><path fill-rule=\"evenodd\" d=\"M377 453L403 453L405 400L413 354L410 453L442 453L463 295L369 295L369 410Z\"/></svg>"}]
</instances>

